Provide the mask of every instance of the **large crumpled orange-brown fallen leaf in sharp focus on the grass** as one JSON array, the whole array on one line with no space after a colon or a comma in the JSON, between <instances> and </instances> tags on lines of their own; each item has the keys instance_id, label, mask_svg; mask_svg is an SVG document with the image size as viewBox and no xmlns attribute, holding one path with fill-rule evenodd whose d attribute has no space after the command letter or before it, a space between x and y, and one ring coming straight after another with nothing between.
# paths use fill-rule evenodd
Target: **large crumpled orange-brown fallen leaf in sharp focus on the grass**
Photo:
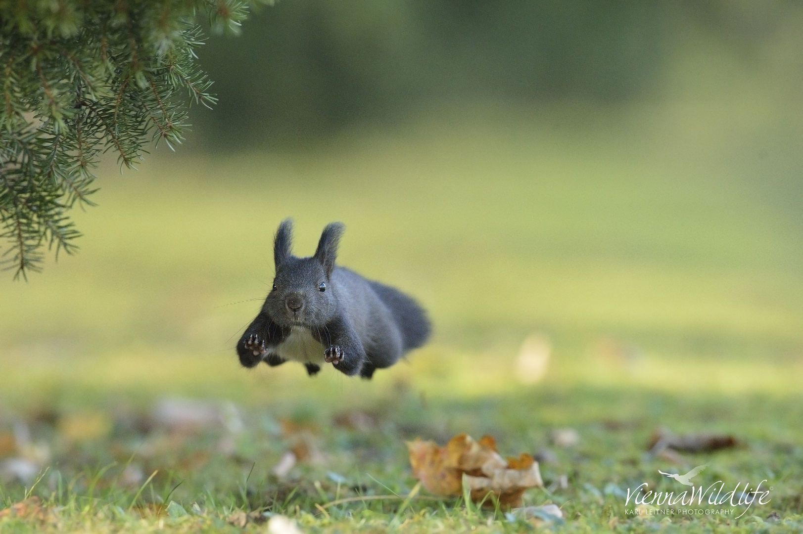
<instances>
[{"instance_id":1,"label":"large crumpled orange-brown fallen leaf in sharp focus on the grass","mask_svg":"<svg viewBox=\"0 0 803 534\"><path fill-rule=\"evenodd\" d=\"M413 475L436 495L460 495L463 481L471 490L471 500L492 507L492 493L505 508L521 506L521 496L530 487L542 487L538 463L532 456L503 459L491 436L479 442L467 434L451 438L446 446L418 438L407 442Z\"/></svg>"}]
</instances>

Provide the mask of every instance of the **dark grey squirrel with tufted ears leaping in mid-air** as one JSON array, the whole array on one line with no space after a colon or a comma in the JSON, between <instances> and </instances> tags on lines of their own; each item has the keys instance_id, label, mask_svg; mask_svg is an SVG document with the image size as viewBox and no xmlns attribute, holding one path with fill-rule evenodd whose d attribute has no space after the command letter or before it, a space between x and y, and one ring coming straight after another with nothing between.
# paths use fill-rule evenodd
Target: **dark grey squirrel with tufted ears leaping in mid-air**
<instances>
[{"instance_id":1,"label":"dark grey squirrel with tufted ears leaping in mid-air","mask_svg":"<svg viewBox=\"0 0 803 534\"><path fill-rule=\"evenodd\" d=\"M279 224L273 287L237 344L243 366L300 361L312 376L328 362L349 376L370 378L426 342L430 321L415 300L335 266L343 230L340 222L328 224L315 255L297 258L291 219Z\"/></svg>"}]
</instances>

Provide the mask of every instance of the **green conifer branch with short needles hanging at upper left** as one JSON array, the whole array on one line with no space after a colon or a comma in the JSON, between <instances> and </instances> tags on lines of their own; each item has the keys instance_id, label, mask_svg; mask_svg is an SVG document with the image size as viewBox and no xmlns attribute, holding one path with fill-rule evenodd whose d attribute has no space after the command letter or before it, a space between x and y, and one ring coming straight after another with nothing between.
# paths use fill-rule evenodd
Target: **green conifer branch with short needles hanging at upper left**
<instances>
[{"instance_id":1,"label":"green conifer branch with short needles hanging at upper left","mask_svg":"<svg viewBox=\"0 0 803 534\"><path fill-rule=\"evenodd\" d=\"M217 101L194 54L203 43L195 17L237 33L248 8L59 0L44 14L33 0L0 2L0 266L27 279L45 244L56 257L75 252L80 233L67 212L94 205L101 152L130 168L149 142L181 142L188 105Z\"/></svg>"}]
</instances>

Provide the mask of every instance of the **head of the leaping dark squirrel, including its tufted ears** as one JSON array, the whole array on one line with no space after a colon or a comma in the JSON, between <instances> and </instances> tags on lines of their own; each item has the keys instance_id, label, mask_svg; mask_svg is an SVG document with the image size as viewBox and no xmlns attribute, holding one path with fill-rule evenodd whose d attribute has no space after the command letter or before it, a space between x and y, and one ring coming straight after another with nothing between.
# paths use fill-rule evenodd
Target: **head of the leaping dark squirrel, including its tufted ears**
<instances>
[{"instance_id":1,"label":"head of the leaping dark squirrel, including its tufted ears","mask_svg":"<svg viewBox=\"0 0 803 534\"><path fill-rule=\"evenodd\" d=\"M263 313L276 324L315 328L335 315L337 300L331 277L343 230L341 222L328 224L320 235L315 255L297 258L291 251L291 219L279 225L273 243L276 275L263 305Z\"/></svg>"}]
</instances>

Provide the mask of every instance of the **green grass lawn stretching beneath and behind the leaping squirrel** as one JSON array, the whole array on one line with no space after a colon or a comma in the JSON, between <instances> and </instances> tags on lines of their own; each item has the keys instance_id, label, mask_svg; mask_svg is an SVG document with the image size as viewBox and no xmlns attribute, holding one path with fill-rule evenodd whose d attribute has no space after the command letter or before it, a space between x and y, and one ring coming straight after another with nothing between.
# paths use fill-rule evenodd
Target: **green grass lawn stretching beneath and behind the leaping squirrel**
<instances>
[{"instance_id":1,"label":"green grass lawn stretching beneath and behind the leaping squirrel","mask_svg":"<svg viewBox=\"0 0 803 534\"><path fill-rule=\"evenodd\" d=\"M552 450L544 479L567 475L569 487L529 491L526 503L559 504L559 530L798 532L799 134L726 111L691 129L686 109L589 113L583 128L549 109L498 112L301 154L160 154L104 178L100 206L77 217L79 255L29 283L0 279L0 436L24 420L47 444L33 493L54 511L44 525L0 520L0 532L238 532L226 517L239 509L286 514L306 532L533 528L460 499L413 499L402 513L402 499L316 508L355 487L406 495L404 440L460 432L494 435L503 454ZM303 255L325 223L345 222L340 263L421 300L432 342L371 382L239 368L232 346L270 286L271 236L287 216ZM553 353L544 380L523 385L516 355L532 332ZM149 428L170 396L234 402L244 430ZM355 412L371 423L337 423ZM270 475L293 439L282 420L311 424L326 457L284 481ZM101 430L70 438L69 421ZM743 446L673 465L646 455L661 425ZM580 444L552 446L562 427ZM626 516L619 491L671 491L658 469L707 461L703 481L768 479L771 503L739 520ZM127 485L128 463L157 475ZM25 494L0 483L4 506ZM158 515L170 500L188 514ZM780 521L766 520L773 511Z\"/></svg>"}]
</instances>

